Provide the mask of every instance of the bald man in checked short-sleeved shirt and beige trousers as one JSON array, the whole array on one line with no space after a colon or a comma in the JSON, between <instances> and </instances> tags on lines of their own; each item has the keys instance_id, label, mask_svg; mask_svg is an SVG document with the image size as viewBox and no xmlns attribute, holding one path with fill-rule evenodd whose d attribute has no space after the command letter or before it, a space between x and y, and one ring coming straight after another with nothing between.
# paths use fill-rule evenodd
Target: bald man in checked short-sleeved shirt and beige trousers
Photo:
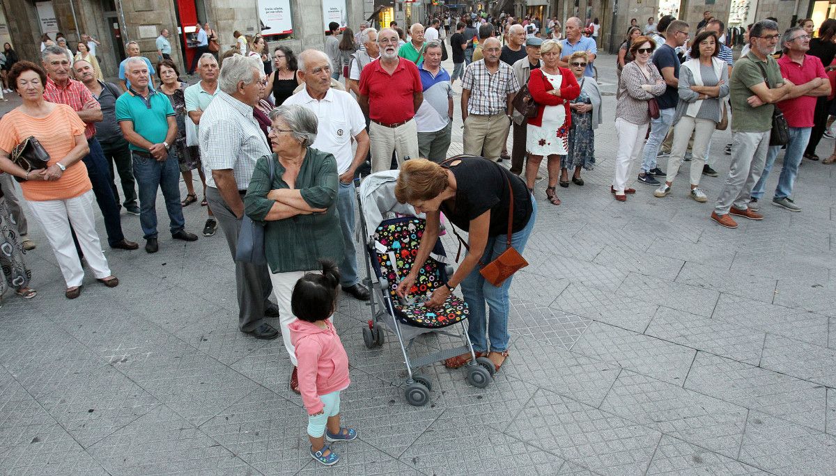
<instances>
[{"instance_id":1,"label":"bald man in checked short-sleeved shirt and beige trousers","mask_svg":"<svg viewBox=\"0 0 836 476\"><path fill-rule=\"evenodd\" d=\"M497 162L511 124L514 94L520 89L513 68L499 61L501 51L497 38L487 38L484 58L468 64L461 77L463 151Z\"/></svg>"}]
</instances>

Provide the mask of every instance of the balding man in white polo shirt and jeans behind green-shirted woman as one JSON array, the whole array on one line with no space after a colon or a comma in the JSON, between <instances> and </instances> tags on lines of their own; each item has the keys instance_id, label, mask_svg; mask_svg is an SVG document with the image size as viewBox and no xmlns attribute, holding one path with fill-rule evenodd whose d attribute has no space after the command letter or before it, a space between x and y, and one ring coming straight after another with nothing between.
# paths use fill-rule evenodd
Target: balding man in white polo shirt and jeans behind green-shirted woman
<instances>
[{"instance_id":1,"label":"balding man in white polo shirt and jeans behind green-shirted woman","mask_svg":"<svg viewBox=\"0 0 836 476\"><path fill-rule=\"evenodd\" d=\"M305 88L285 99L284 104L299 104L319 119L316 140L311 147L334 154L339 174L337 210L343 231L344 257L339 262L339 281L343 291L360 301L369 301L369 290L360 284L354 250L354 172L369 152L369 134L359 104L351 94L331 88L329 58L325 53L308 49L298 56L298 74ZM351 139L357 143L352 151Z\"/></svg>"}]
</instances>

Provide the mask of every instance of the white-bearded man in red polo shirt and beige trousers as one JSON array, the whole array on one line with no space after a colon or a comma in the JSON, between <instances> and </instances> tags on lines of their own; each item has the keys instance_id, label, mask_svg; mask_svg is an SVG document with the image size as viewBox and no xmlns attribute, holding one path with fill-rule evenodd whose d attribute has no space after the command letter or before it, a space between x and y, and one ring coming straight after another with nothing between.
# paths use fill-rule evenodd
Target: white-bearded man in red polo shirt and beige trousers
<instances>
[{"instance_id":1,"label":"white-bearded man in red polo shirt and beige trousers","mask_svg":"<svg viewBox=\"0 0 836 476\"><path fill-rule=\"evenodd\" d=\"M398 163L418 157L415 111L424 101L421 75L415 63L398 57L398 33L383 28L377 35L380 58L360 73L357 98L369 116L371 171L389 170L392 152Z\"/></svg>"}]
</instances>

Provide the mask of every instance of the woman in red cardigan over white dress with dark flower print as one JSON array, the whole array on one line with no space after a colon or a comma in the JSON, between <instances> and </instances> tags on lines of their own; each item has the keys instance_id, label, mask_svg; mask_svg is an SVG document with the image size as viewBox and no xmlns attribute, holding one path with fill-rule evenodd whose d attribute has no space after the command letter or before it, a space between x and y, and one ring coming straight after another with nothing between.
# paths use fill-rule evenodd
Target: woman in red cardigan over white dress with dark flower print
<instances>
[{"instance_id":1,"label":"woman in red cardigan over white dress with dark flower print","mask_svg":"<svg viewBox=\"0 0 836 476\"><path fill-rule=\"evenodd\" d=\"M558 185L561 157L568 154L568 134L572 125L569 101L580 93L573 73L558 66L560 50L557 41L544 41L540 47L543 64L528 78L528 90L538 106L537 115L528 119L526 129L526 182L528 190L533 190L540 162L548 157L546 198L552 205L560 205L554 186Z\"/></svg>"}]
</instances>

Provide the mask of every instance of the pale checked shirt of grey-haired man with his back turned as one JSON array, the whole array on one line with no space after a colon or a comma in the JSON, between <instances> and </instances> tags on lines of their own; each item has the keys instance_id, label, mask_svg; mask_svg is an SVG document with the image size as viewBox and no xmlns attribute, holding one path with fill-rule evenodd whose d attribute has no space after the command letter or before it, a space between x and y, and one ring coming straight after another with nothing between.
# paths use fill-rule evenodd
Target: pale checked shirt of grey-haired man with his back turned
<instances>
[{"instance_id":1,"label":"pale checked shirt of grey-haired man with his back turned","mask_svg":"<svg viewBox=\"0 0 836 476\"><path fill-rule=\"evenodd\" d=\"M201 115L199 139L206 185L214 188L212 170L232 169L238 190L247 190L256 161L272 154L252 107L223 91Z\"/></svg>"}]
</instances>

